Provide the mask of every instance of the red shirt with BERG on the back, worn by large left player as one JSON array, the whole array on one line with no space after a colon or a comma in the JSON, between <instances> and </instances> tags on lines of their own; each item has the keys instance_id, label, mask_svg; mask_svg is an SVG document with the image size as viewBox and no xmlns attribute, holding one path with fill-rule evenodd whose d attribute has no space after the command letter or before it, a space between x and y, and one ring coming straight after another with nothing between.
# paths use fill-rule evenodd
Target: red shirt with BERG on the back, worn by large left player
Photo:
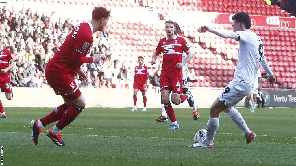
<instances>
[{"instance_id":1,"label":"red shirt with BERG on the back, worn by large left player","mask_svg":"<svg viewBox=\"0 0 296 166\"><path fill-rule=\"evenodd\" d=\"M93 31L91 23L78 24L67 35L57 53L49 62L59 70L77 71L82 64L78 60L86 56L94 41Z\"/></svg>"}]
</instances>

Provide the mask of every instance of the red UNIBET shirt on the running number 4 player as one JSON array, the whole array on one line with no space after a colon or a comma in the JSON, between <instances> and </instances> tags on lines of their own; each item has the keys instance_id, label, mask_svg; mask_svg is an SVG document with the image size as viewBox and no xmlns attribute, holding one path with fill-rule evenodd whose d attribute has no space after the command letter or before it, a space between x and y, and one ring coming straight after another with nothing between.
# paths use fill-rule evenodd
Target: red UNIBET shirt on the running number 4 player
<instances>
[{"instance_id":1,"label":"red UNIBET shirt on the running number 4 player","mask_svg":"<svg viewBox=\"0 0 296 166\"><path fill-rule=\"evenodd\" d=\"M182 62L182 54L188 52L189 48L184 38L175 35L172 40L168 37L159 40L155 53L163 53L163 64L161 76L181 76L182 68L176 68L176 64Z\"/></svg>"}]
</instances>

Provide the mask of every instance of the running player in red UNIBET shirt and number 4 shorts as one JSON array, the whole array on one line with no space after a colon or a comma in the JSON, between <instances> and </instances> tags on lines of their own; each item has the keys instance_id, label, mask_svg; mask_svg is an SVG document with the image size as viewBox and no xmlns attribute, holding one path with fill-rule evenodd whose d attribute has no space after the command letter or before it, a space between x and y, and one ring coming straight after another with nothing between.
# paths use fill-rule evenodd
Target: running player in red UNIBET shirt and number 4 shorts
<instances>
[{"instance_id":1,"label":"running player in red UNIBET shirt and number 4 shorts","mask_svg":"<svg viewBox=\"0 0 296 166\"><path fill-rule=\"evenodd\" d=\"M160 92L161 100L164 103L165 111L172 121L170 130L179 129L176 121L174 110L170 104L170 92L172 92L171 100L178 105L188 99L189 106L194 104L190 91L182 95L182 67L192 58L187 42L184 38L174 34L176 31L176 23L173 21L165 22L166 38L160 39L155 53L152 56L152 65L155 64L160 53L163 53L163 64L160 74ZM183 51L187 53L187 57L182 61Z\"/></svg>"}]
</instances>

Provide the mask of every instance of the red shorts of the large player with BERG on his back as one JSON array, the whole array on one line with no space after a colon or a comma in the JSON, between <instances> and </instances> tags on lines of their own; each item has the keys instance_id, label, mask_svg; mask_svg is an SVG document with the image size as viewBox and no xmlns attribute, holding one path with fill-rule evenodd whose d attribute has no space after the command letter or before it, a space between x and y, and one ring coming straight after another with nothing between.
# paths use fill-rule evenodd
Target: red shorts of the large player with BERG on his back
<instances>
[{"instance_id":1,"label":"red shorts of the large player with BERG on his back","mask_svg":"<svg viewBox=\"0 0 296 166\"><path fill-rule=\"evenodd\" d=\"M76 85L73 74L69 71L45 69L46 80L57 95L62 95L68 100L74 100L81 96L81 92Z\"/></svg>"}]
</instances>

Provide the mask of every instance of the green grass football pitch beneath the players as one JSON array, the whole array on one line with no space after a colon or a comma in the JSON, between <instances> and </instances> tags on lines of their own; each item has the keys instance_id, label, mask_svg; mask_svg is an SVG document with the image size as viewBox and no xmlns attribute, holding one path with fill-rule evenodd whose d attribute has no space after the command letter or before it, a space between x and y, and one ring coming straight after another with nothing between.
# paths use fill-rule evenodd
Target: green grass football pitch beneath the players
<instances>
[{"instance_id":1,"label":"green grass football pitch beneath the players","mask_svg":"<svg viewBox=\"0 0 296 166\"><path fill-rule=\"evenodd\" d=\"M214 148L189 148L194 134L206 129L209 109L200 109L193 120L192 109L176 108L179 130L169 131L168 123L155 118L160 108L131 112L130 108L86 108L63 129L66 147L57 147L39 135L32 144L29 123L52 108L4 108L0 119L0 145L7 166L122 166L122 165L296 165L296 110L238 109L258 137L244 143L239 128L221 113ZM48 130L53 124L44 129Z\"/></svg>"}]
</instances>

